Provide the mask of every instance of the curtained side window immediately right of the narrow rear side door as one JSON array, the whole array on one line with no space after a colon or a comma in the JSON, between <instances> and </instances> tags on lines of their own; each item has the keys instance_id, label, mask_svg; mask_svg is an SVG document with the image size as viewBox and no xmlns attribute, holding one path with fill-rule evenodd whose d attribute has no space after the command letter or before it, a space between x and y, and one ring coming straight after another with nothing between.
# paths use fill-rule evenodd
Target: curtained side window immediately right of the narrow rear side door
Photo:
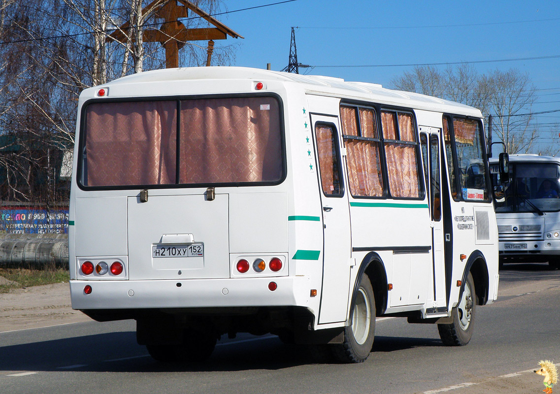
<instances>
[{"instance_id":1,"label":"curtained side window immediately right of the narrow rear side door","mask_svg":"<svg viewBox=\"0 0 560 394\"><path fill-rule=\"evenodd\" d=\"M343 134L358 137L356 107L340 107ZM375 113L360 109L361 137L378 138ZM348 182L353 196L382 196L383 181L379 158L379 143L345 138Z\"/></svg>"}]
</instances>

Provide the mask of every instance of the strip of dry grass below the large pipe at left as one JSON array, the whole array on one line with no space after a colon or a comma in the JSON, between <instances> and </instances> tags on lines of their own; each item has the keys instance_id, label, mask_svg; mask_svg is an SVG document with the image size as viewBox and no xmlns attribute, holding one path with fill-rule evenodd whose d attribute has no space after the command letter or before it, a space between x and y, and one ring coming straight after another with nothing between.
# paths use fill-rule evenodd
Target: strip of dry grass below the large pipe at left
<instances>
[{"instance_id":1,"label":"strip of dry grass below the large pipe at left","mask_svg":"<svg viewBox=\"0 0 560 394\"><path fill-rule=\"evenodd\" d=\"M0 293L6 293L10 289L39 286L43 284L68 282L70 273L62 268L55 269L24 269L24 268L2 268L0 269Z\"/></svg>"}]
</instances>

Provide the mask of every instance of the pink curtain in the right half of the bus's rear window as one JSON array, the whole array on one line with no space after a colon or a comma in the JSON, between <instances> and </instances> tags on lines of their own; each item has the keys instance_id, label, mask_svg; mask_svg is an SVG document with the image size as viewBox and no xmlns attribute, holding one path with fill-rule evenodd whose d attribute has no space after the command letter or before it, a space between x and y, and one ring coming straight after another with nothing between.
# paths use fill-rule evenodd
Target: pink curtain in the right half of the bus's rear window
<instances>
[{"instance_id":1,"label":"pink curtain in the right half of the bus's rear window","mask_svg":"<svg viewBox=\"0 0 560 394\"><path fill-rule=\"evenodd\" d=\"M282 177L272 97L181 101L179 183L274 182Z\"/></svg>"}]
</instances>

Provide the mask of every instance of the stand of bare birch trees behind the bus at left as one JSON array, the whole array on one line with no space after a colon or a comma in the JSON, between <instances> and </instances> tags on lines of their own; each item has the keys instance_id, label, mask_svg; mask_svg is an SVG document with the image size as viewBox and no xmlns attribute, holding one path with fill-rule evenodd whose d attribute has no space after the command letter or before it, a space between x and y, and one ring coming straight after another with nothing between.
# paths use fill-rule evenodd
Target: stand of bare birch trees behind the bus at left
<instances>
[{"instance_id":1,"label":"stand of bare birch trees behind the bus at left","mask_svg":"<svg viewBox=\"0 0 560 394\"><path fill-rule=\"evenodd\" d=\"M165 64L161 44L142 37L146 27L161 26L153 10L166 1L147 7L142 0L0 0L0 199L46 206L67 200L57 171L74 143L78 95ZM194 3L209 13L223 7L222 0ZM108 40L126 22L128 39ZM183 23L206 27L200 18ZM234 51L217 46L214 64L228 64ZM185 43L180 51L182 66L205 61L204 44Z\"/></svg>"}]
</instances>

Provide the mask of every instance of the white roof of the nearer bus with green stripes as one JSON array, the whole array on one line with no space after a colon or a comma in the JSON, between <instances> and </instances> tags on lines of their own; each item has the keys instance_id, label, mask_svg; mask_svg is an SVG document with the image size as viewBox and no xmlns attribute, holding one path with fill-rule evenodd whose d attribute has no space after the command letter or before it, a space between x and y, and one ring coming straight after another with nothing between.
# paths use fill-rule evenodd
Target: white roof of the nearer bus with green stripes
<instances>
[{"instance_id":1,"label":"white roof of the nearer bus with green stripes","mask_svg":"<svg viewBox=\"0 0 560 394\"><path fill-rule=\"evenodd\" d=\"M415 109L438 110L482 117L474 107L457 102L421 95L419 93L397 91L381 85L366 82L347 82L342 78L309 76L279 71L269 71L246 67L188 67L146 71L115 79L104 86L136 83L182 82L195 80L239 80L278 81L296 83L306 93L328 95L354 100L381 102L382 104L407 106ZM223 82L221 83L223 86ZM134 95L136 96L136 95Z\"/></svg>"}]
</instances>

